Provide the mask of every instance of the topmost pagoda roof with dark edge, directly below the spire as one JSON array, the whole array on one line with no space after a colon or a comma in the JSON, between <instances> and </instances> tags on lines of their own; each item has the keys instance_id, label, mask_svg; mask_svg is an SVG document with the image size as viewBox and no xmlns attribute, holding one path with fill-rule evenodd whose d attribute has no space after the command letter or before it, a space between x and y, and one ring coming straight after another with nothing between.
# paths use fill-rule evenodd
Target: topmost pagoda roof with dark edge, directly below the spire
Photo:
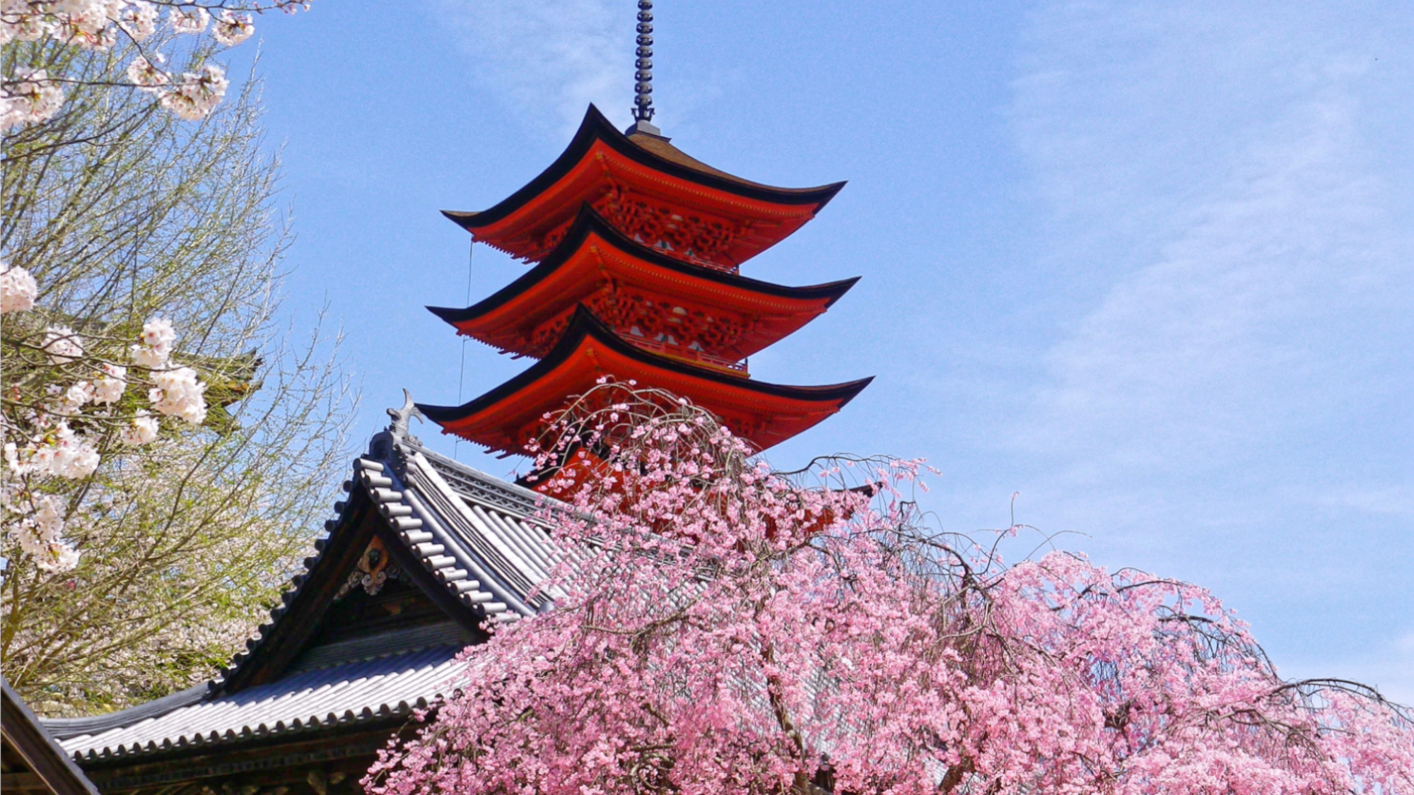
<instances>
[{"instance_id":1,"label":"topmost pagoda roof with dark edge, directly below the spire","mask_svg":"<svg viewBox=\"0 0 1414 795\"><path fill-rule=\"evenodd\" d=\"M570 146L523 188L489 209L443 214L479 242L539 260L553 249L553 232L568 225L581 204L628 190L673 211L740 225L720 252L730 262L718 265L731 267L799 229L843 187L778 188L742 180L689 157L666 137L624 134L590 105Z\"/></svg>"}]
</instances>

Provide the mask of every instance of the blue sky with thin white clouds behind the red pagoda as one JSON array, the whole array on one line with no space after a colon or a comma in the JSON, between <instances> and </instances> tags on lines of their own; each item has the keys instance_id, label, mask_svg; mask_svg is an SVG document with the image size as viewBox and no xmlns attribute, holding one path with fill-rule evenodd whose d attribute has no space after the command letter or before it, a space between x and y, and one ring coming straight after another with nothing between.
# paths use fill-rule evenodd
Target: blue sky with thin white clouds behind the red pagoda
<instances>
[{"instance_id":1,"label":"blue sky with thin white clouds behind the red pagoda","mask_svg":"<svg viewBox=\"0 0 1414 795\"><path fill-rule=\"evenodd\" d=\"M298 242L359 434L525 366L455 340L467 236L588 102L626 124L632 0L320 0L260 25ZM745 273L863 276L752 356L875 375L771 451L922 455L953 530L1017 516L1213 588L1288 676L1414 702L1414 14L1407 3L665 0L655 119L779 185L848 180ZM471 296L520 265L478 249ZM465 383L458 378L465 354ZM424 427L493 474L513 461Z\"/></svg>"}]
</instances>

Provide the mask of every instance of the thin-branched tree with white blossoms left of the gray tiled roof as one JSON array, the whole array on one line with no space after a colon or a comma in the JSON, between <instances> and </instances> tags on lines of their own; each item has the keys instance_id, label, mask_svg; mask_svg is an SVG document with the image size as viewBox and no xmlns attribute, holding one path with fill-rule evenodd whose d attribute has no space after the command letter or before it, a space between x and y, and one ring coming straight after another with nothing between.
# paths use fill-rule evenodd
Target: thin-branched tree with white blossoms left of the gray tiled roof
<instances>
[{"instance_id":1,"label":"thin-branched tree with white blossoms left of the gray tiled roof","mask_svg":"<svg viewBox=\"0 0 1414 795\"><path fill-rule=\"evenodd\" d=\"M334 341L274 323L259 82L199 120L71 88L6 136L0 190L0 661L55 716L230 659L338 489L352 398Z\"/></svg>"}]
</instances>

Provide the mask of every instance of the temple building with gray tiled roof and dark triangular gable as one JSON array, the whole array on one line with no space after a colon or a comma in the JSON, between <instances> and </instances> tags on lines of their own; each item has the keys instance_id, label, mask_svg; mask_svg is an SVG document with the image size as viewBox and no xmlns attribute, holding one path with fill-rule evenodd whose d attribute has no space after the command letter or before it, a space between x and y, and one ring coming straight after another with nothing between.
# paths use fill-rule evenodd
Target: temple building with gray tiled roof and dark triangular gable
<instances>
[{"instance_id":1,"label":"temple building with gray tiled roof and dark triangular gable","mask_svg":"<svg viewBox=\"0 0 1414 795\"><path fill-rule=\"evenodd\" d=\"M122 712L44 720L100 792L352 795L434 707L488 621L549 604L546 498L426 450L411 402L354 460L327 535L215 680ZM8 788L7 788L8 791Z\"/></svg>"}]
</instances>

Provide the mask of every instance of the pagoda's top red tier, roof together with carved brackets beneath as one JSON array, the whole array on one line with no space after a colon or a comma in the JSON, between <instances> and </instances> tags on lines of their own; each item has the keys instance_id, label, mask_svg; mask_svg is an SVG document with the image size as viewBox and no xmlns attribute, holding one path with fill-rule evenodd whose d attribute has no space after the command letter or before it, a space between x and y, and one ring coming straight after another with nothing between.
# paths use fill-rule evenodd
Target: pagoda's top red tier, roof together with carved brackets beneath
<instances>
[{"instance_id":1,"label":"pagoda's top red tier, roof together with carved brackets beneath","mask_svg":"<svg viewBox=\"0 0 1414 795\"><path fill-rule=\"evenodd\" d=\"M628 238L706 267L735 270L814 218L843 182L775 188L693 160L662 136L625 136L592 105L568 149L482 212L447 212L475 240L539 262L588 204Z\"/></svg>"}]
</instances>

